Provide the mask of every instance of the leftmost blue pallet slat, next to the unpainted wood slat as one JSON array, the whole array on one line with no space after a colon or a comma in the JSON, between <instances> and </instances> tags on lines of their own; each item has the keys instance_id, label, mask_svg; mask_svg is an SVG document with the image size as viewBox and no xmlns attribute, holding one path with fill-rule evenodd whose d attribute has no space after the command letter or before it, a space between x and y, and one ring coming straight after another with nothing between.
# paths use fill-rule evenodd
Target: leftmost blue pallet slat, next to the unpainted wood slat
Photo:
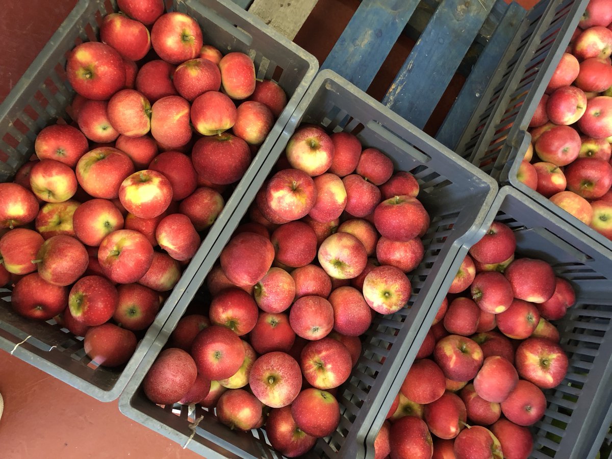
<instances>
[{"instance_id":1,"label":"leftmost blue pallet slat, next to the unpainted wood slat","mask_svg":"<svg viewBox=\"0 0 612 459\"><path fill-rule=\"evenodd\" d=\"M364 91L408 23L417 0L366 0L349 21L321 69L331 69Z\"/></svg>"}]
</instances>

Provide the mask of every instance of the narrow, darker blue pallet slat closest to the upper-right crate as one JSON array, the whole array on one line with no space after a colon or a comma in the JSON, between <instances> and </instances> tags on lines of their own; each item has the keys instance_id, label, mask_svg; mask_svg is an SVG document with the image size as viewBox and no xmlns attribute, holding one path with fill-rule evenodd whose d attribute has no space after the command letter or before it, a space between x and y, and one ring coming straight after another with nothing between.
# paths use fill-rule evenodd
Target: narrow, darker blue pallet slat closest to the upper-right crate
<instances>
[{"instance_id":1,"label":"narrow, darker blue pallet slat closest to the upper-right crate","mask_svg":"<svg viewBox=\"0 0 612 459\"><path fill-rule=\"evenodd\" d=\"M455 151L457 148L461 134L465 131L469 119L474 114L474 110L476 110L485 89L487 89L493 70L502 62L508 45L517 31L518 24L525 15L526 10L518 3L512 2L510 4L506 14L493 32L491 40L476 61L455 103L450 108L444 123L438 130L436 140L451 150Z\"/></svg>"}]
</instances>

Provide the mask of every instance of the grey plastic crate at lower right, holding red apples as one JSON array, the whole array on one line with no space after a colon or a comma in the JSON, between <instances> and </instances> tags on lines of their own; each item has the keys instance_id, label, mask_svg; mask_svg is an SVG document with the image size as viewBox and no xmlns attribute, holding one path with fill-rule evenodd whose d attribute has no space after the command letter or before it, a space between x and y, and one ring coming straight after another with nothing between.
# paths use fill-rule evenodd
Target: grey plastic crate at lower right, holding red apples
<instances>
[{"instance_id":1,"label":"grey plastic crate at lower right, holding red apples","mask_svg":"<svg viewBox=\"0 0 612 459\"><path fill-rule=\"evenodd\" d=\"M532 428L531 457L595 458L612 420L612 253L510 186L499 190L483 228L493 220L512 228L518 254L547 261L576 291L576 304L554 321L569 370L558 387L545 390L547 410Z\"/></svg>"}]
</instances>

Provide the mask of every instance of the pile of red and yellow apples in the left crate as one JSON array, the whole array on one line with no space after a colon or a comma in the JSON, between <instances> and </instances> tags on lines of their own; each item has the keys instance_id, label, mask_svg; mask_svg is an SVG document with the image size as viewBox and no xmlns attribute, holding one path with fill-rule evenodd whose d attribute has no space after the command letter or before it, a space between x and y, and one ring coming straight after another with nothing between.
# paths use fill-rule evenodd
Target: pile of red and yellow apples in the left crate
<instances>
[{"instance_id":1,"label":"pile of red and yellow apples in the left crate","mask_svg":"<svg viewBox=\"0 0 612 459\"><path fill-rule=\"evenodd\" d=\"M34 160L0 184L13 309L56 318L109 367L132 356L134 332L154 321L286 105L246 54L203 45L188 15L162 0L118 5L101 42L67 59L75 123L45 127Z\"/></svg>"}]
</instances>

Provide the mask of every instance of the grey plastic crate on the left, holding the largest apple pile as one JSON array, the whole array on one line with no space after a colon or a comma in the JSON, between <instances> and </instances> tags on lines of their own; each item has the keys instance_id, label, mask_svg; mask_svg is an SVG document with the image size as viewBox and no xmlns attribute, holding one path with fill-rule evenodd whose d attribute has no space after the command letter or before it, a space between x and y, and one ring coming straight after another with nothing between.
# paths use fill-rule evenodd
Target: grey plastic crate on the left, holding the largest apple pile
<instances>
[{"instance_id":1,"label":"grey plastic crate on the left, holding the largest apple pile","mask_svg":"<svg viewBox=\"0 0 612 459\"><path fill-rule=\"evenodd\" d=\"M96 367L84 354L82 341L58 324L53 321L36 323L13 313L9 304L10 291L4 290L0 302L0 349L102 401L119 397L174 307L181 301L190 301L184 295L187 285L222 234L275 140L288 122L292 125L291 113L318 70L318 62L311 54L233 2L175 0L171 9L198 20L204 43L214 45L223 53L233 50L248 54L255 62L257 78L274 76L287 93L288 104L125 367ZM80 0L0 105L0 181L12 179L18 168L34 154L35 137L43 127L54 124L57 119L72 121L69 104L75 93L64 72L67 55L76 44L97 40L103 16L116 10L115 1Z\"/></svg>"}]
</instances>

